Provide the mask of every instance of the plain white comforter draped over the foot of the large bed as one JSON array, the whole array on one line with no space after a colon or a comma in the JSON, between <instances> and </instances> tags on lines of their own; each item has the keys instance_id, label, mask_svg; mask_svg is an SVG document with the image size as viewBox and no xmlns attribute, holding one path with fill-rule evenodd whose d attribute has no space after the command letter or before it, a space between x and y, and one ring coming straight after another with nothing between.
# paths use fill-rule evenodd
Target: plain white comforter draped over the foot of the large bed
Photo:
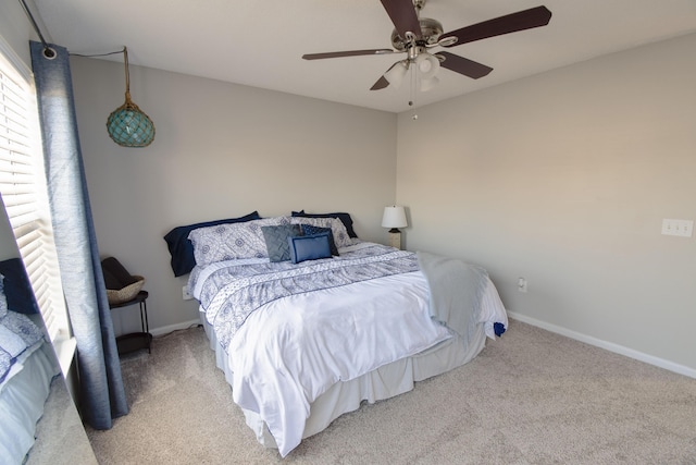
<instances>
[{"instance_id":1,"label":"plain white comforter draped over the foot of the large bed","mask_svg":"<svg viewBox=\"0 0 696 465\"><path fill-rule=\"evenodd\" d=\"M197 298L207 271L191 286ZM478 315L487 327L507 326L498 304ZM450 336L431 319L420 271L286 296L253 311L229 340L233 397L263 418L286 456L301 441L310 404L333 384Z\"/></svg>"}]
</instances>

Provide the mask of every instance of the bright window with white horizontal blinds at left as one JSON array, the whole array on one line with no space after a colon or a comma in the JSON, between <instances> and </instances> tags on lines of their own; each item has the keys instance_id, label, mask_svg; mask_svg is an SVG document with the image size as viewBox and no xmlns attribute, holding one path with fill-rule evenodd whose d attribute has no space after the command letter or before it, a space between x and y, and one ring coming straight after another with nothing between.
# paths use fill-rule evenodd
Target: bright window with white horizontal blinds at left
<instances>
[{"instance_id":1,"label":"bright window with white horizontal blinds at left","mask_svg":"<svg viewBox=\"0 0 696 465\"><path fill-rule=\"evenodd\" d=\"M74 341L53 241L41 147L32 73L0 37L0 194L48 335L66 372Z\"/></svg>"}]
</instances>

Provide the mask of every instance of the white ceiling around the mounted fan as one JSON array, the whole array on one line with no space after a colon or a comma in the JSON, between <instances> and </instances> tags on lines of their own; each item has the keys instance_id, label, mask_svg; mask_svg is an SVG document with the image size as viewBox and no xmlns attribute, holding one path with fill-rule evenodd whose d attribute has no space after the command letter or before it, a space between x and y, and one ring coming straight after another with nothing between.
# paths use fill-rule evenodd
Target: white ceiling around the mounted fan
<instances>
[{"instance_id":1,"label":"white ceiling around the mounted fan","mask_svg":"<svg viewBox=\"0 0 696 465\"><path fill-rule=\"evenodd\" d=\"M45 35L74 53L127 46L130 64L390 112L409 109L408 83L370 90L403 54L301 59L390 48L394 25L378 0L34 2ZM417 105L696 32L696 0L428 0L421 16L438 20L449 32L540 4L552 12L545 27L448 49L494 71L471 79L440 69L439 85L419 93ZM104 59L123 61L121 54Z\"/></svg>"}]
</instances>

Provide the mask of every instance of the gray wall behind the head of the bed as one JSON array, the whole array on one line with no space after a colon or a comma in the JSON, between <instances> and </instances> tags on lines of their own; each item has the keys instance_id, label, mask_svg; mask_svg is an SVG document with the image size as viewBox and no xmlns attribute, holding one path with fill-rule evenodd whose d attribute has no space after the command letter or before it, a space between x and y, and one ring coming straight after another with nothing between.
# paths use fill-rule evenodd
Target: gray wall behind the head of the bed
<instances>
[{"instance_id":1,"label":"gray wall behind the head of the bed","mask_svg":"<svg viewBox=\"0 0 696 465\"><path fill-rule=\"evenodd\" d=\"M124 101L123 61L73 58L73 85L102 255L146 278L153 332L198 318L182 299L162 236L172 228L259 210L349 211L357 233L386 242L382 212L396 195L397 115L130 66L133 100L154 122L146 148L107 133ZM113 313L116 333L137 307Z\"/></svg>"}]
</instances>

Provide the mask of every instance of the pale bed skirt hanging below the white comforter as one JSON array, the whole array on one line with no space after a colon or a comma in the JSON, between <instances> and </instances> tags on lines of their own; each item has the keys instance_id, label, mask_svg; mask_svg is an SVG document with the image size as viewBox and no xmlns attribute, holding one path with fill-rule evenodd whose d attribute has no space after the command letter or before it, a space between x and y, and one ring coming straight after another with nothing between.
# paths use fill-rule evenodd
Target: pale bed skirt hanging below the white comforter
<instances>
[{"instance_id":1,"label":"pale bed skirt hanging below the white comforter","mask_svg":"<svg viewBox=\"0 0 696 465\"><path fill-rule=\"evenodd\" d=\"M201 323L210 341L210 347L215 352L215 363L225 374L225 379L232 386L233 374L227 365L227 354L217 344L212 327L200 313ZM452 338L444 341L420 354L401 358L370 371L349 381L339 381L320 395L310 408L302 439L324 430L340 415L353 412L360 407L362 401L374 403L394 397L411 391L417 381L422 381L436 375L457 368L474 358L485 345L486 333L484 325L478 325L471 341L464 343L462 338L452 332ZM246 423L266 448L276 448L275 440L261 417L251 411L243 408Z\"/></svg>"}]
</instances>

